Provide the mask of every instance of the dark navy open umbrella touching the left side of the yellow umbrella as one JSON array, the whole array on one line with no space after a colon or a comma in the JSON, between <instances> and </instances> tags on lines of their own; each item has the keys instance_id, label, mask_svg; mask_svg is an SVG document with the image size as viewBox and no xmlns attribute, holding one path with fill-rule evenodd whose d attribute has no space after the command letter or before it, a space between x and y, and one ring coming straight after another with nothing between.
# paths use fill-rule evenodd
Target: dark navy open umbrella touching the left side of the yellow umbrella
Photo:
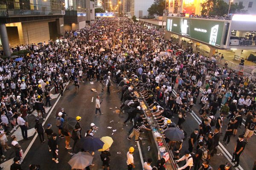
<instances>
[{"instance_id":1,"label":"dark navy open umbrella touching the left side of the yellow umbrella","mask_svg":"<svg viewBox=\"0 0 256 170\"><path fill-rule=\"evenodd\" d=\"M102 149L104 145L104 142L96 137L86 136L79 139L79 141L76 143L76 146L78 148L84 149L86 151L95 151Z\"/></svg>"}]
</instances>

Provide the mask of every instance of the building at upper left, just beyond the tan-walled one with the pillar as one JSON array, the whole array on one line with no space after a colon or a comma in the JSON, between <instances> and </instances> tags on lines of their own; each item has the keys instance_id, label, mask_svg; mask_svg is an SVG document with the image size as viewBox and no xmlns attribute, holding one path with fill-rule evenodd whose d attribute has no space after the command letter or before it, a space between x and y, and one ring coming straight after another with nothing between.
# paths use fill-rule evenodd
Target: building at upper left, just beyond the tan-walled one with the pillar
<instances>
[{"instance_id":1,"label":"building at upper left, just beyond the tan-walled one with the pillar","mask_svg":"<svg viewBox=\"0 0 256 170\"><path fill-rule=\"evenodd\" d=\"M65 0L64 29L77 30L95 20L94 0Z\"/></svg>"}]
</instances>

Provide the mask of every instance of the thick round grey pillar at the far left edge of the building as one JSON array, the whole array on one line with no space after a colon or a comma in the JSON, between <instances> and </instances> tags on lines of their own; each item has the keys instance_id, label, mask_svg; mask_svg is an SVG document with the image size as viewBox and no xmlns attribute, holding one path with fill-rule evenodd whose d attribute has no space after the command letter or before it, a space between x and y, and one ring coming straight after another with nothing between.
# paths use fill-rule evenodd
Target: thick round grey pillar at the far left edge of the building
<instances>
[{"instance_id":1,"label":"thick round grey pillar at the far left edge of the building","mask_svg":"<svg viewBox=\"0 0 256 170\"><path fill-rule=\"evenodd\" d=\"M1 36L1 42L3 45L3 52L7 57L9 57L11 56L11 51L9 47L9 39L8 39L8 34L7 34L5 24L0 24L0 36Z\"/></svg>"}]
</instances>

